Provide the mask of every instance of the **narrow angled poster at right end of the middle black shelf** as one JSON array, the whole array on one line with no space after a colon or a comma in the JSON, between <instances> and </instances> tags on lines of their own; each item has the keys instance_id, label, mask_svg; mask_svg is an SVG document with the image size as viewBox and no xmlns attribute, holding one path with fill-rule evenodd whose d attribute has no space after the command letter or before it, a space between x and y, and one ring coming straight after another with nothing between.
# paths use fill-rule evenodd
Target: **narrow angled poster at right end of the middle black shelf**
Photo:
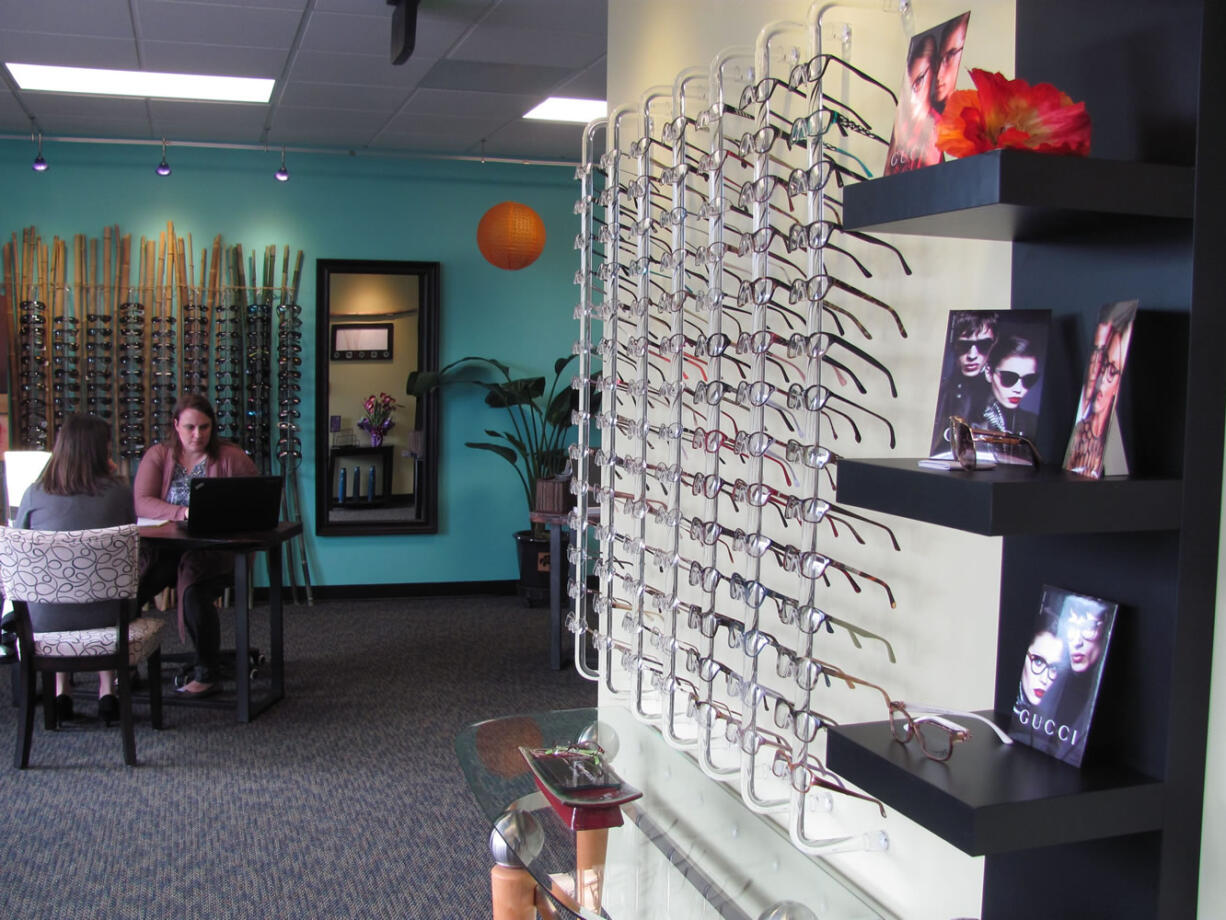
<instances>
[{"instance_id":1,"label":"narrow angled poster at right end of the middle black shelf","mask_svg":"<svg viewBox=\"0 0 1226 920\"><path fill-rule=\"evenodd\" d=\"M1081 384L1073 437L1064 454L1064 469L1091 478L1102 476L1102 454L1111 429L1111 416L1119 394L1119 379L1128 358L1138 301L1108 303L1098 313L1094 345Z\"/></svg>"}]
</instances>

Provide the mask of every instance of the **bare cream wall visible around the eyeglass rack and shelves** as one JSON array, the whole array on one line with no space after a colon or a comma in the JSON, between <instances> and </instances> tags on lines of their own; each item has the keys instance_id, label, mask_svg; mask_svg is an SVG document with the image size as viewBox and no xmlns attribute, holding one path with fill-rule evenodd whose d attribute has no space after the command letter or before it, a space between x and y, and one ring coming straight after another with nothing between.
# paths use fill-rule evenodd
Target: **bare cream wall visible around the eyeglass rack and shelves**
<instances>
[{"instance_id":1,"label":"bare cream wall visible around the eyeglass rack and shelves","mask_svg":"<svg viewBox=\"0 0 1226 920\"><path fill-rule=\"evenodd\" d=\"M934 26L972 6L970 36L962 60L970 66L1013 70L1011 2L924 2L915 28ZM834 47L841 23L851 28L852 61L897 86L902 77L906 36L899 16L881 12L879 0L858 9L834 6L824 22L826 50ZM775 20L799 20L808 4L792 0L726 2L720 0L614 0L609 4L608 93L611 108L636 105L649 87L671 85L685 67L706 67L711 58L729 45L752 43L761 27ZM837 25L835 25L837 23ZM803 29L792 29L782 48L798 43L808 58ZM772 70L772 72L775 72ZM962 82L966 82L964 72ZM857 91L852 88L852 92ZM888 132L890 110L870 97L853 94L853 103L869 108L864 114ZM636 136L636 135L631 135ZM857 148L859 152L862 148ZM868 147L866 156L879 172L881 148ZM875 158L875 159L873 159ZM862 313L873 332L869 343L899 381L900 395L888 394L869 407L888 412L897 428L897 456L921 456L927 451L939 375L939 356L946 313L956 308L1009 307L1010 250L1008 244L923 238L894 238L915 266L905 277L891 256L869 253L872 281L864 287L902 314L908 336L900 339L881 314ZM859 253L863 248L857 249ZM873 250L873 247L867 247ZM852 277L845 275L843 277ZM857 278L859 283L859 280ZM832 449L850 455L888 454L878 432L866 432L862 445L843 437L826 440ZM877 438L874 440L874 438ZM893 585L897 608L889 610L879 596L866 589L856 596L843 592L830 611L869 629L884 633L897 653L890 665L877 649L852 648L845 635L830 638L823 654L847 671L881 683L891 696L954 708L991 708L996 649L996 621L999 592L1000 543L951 530L931 527L901 519L888 519L902 546L901 553L883 550L880 541L857 547L846 540L832 545L839 558L883 577ZM602 691L602 703L618 698ZM624 700L623 700L624 702ZM843 721L879 720L885 716L879 696L870 692L831 691L828 714ZM652 774L655 775L655 774ZM731 799L711 796L712 808L723 812L726 824L749 817L748 810ZM949 920L977 916L982 889L982 860L962 855L900 815L881 821L870 806L836 796L831 815L815 816L819 835L858 834L884 828L890 837L886 853L862 853L831 857L831 864L863 886L888 910L907 920ZM722 805L720 802L723 802ZM766 818L767 821L770 818ZM810 832L814 828L810 828ZM758 854L737 853L737 838L725 839L729 859L754 865ZM780 846L787 846L780 843ZM819 876L817 868L814 878ZM825 916L823 914L823 916Z\"/></svg>"}]
</instances>

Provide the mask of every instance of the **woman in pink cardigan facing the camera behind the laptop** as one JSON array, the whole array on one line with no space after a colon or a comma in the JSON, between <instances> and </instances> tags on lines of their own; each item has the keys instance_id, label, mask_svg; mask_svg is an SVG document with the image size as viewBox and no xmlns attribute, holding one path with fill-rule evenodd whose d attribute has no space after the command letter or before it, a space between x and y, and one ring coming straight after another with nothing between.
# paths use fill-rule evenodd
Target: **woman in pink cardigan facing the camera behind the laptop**
<instances>
[{"instance_id":1,"label":"woman in pink cardigan facing the camera behind the laptop","mask_svg":"<svg viewBox=\"0 0 1226 920\"><path fill-rule=\"evenodd\" d=\"M200 476L256 476L243 450L217 437L217 415L207 399L185 393L174 405L167 439L141 458L132 487L136 514L158 520L186 520L189 486ZM192 680L179 688L188 697L219 689L221 626L215 601L234 578L234 556L215 550L147 548L141 546L141 590L145 604L174 586L179 595L179 635L196 650Z\"/></svg>"}]
</instances>

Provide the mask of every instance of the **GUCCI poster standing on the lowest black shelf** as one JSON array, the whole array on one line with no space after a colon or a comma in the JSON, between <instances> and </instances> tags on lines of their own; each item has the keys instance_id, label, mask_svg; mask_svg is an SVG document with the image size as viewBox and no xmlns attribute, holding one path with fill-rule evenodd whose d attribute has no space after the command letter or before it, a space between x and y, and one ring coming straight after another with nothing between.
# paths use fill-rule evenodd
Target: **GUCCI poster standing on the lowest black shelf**
<instances>
[{"instance_id":1,"label":"GUCCI poster standing on the lowest black shelf","mask_svg":"<svg viewBox=\"0 0 1226 920\"><path fill-rule=\"evenodd\" d=\"M1021 662L1009 736L1080 767L1117 605L1043 586Z\"/></svg>"}]
</instances>

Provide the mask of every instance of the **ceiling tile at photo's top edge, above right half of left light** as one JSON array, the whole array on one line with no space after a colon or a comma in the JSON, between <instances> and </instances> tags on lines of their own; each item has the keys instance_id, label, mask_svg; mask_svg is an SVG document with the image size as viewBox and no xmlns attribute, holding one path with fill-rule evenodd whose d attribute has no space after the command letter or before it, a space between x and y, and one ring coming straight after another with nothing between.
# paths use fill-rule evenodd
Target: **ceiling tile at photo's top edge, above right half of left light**
<instances>
[{"instance_id":1,"label":"ceiling tile at photo's top edge, above right half of left light","mask_svg":"<svg viewBox=\"0 0 1226 920\"><path fill-rule=\"evenodd\" d=\"M202 2L145 0L140 6L141 38L148 42L192 40L288 49L302 15L294 10L249 6L218 7Z\"/></svg>"}]
</instances>

